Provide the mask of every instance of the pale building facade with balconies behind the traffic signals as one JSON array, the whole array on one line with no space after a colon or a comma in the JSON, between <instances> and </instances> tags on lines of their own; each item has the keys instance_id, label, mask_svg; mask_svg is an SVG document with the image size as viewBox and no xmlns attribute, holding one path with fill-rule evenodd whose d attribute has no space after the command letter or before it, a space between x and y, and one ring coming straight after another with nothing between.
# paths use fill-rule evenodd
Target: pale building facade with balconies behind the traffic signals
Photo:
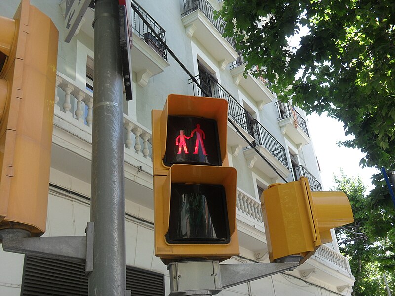
<instances>
[{"instance_id":1,"label":"pale building facade with balconies behind the traffic signals","mask_svg":"<svg viewBox=\"0 0 395 296\"><path fill-rule=\"evenodd\" d=\"M31 4L48 15L59 30L44 235L84 235L90 215L94 11L88 8L75 36L65 43L66 0L31 0ZM281 182L279 175L288 181L305 176L312 190L322 190L322 186L304 112L277 102L264 78L243 76L243 57L232 39L221 37L222 20L213 16L221 1L132 0L131 4L133 100L124 100L127 283L132 295L168 295L168 271L154 255L151 160L151 110L162 109L168 94L226 99L229 118L271 164L228 124L228 158L237 169L240 255L225 263L269 262L260 195L268 185ZM19 1L2 0L0 15L12 18L18 5ZM2 249L0 262L0 295L87 295L87 278L77 263ZM339 254L335 240L321 246L294 271L229 288L220 295L351 295L353 283L349 263Z\"/></svg>"}]
</instances>

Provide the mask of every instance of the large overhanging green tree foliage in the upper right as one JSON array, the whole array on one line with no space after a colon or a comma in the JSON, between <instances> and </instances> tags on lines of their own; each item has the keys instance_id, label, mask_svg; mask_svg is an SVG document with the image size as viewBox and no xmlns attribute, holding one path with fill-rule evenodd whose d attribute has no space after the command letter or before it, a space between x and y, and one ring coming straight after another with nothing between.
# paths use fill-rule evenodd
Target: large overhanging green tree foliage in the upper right
<instances>
[{"instance_id":1,"label":"large overhanging green tree foliage in the upper right","mask_svg":"<svg viewBox=\"0 0 395 296\"><path fill-rule=\"evenodd\" d=\"M248 73L281 100L341 120L361 164L395 170L394 0L224 0L220 15Z\"/></svg>"}]
</instances>

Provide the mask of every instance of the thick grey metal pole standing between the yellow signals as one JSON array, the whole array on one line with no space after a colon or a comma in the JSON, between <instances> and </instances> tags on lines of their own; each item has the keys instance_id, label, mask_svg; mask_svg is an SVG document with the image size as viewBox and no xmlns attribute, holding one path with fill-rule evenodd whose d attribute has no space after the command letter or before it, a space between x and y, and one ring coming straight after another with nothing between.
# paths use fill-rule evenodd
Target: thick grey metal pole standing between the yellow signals
<instances>
[{"instance_id":1,"label":"thick grey metal pole standing between the yellow signals","mask_svg":"<svg viewBox=\"0 0 395 296\"><path fill-rule=\"evenodd\" d=\"M123 94L118 0L95 1L89 296L126 289Z\"/></svg>"}]
</instances>

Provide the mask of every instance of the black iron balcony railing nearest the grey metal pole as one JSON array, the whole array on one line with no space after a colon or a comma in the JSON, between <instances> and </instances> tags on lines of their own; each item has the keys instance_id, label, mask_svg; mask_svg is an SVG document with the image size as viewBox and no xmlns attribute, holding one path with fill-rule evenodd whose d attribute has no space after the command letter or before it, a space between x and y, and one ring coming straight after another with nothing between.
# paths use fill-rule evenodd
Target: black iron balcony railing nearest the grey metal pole
<instances>
[{"instance_id":1,"label":"black iron balcony railing nearest the grey metal pole","mask_svg":"<svg viewBox=\"0 0 395 296\"><path fill-rule=\"evenodd\" d=\"M150 28L143 22L137 12L139 12L146 21L151 25L155 32L166 43L166 31L134 0L132 8L133 12L133 30L141 39L143 39L150 47L152 47L163 59L167 61L167 50L162 42L155 36ZM137 11L137 12L136 12Z\"/></svg>"}]
</instances>

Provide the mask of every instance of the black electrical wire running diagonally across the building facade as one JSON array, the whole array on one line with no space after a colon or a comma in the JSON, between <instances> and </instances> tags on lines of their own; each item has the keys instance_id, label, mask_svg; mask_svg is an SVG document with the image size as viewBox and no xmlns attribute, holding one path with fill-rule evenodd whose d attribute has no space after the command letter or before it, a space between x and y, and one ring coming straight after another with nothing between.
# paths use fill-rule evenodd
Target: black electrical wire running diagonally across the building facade
<instances>
[{"instance_id":1,"label":"black electrical wire running diagonally across the building facade","mask_svg":"<svg viewBox=\"0 0 395 296\"><path fill-rule=\"evenodd\" d=\"M144 16L141 14L140 11L136 8L136 6L131 2L132 8L134 12L141 18L144 24L152 31L152 33L155 35L155 37L158 38L158 41L166 48L167 52L173 57L173 59L177 62L178 65L185 71L186 74L191 78L191 80L197 85L197 87L203 92L206 93L204 88L200 85L200 83L197 81L194 75L191 74L191 72L188 71L188 69L185 67L185 65L177 58L177 56L174 54L174 52L169 48L169 46L166 44L166 42L163 41L163 39L159 36L159 34L154 30L154 28L151 26L151 24L144 18ZM232 124L232 126L236 129L237 133L247 142L247 144L252 147L256 153L276 172L276 174L285 182L287 183L288 181L281 176L281 174L274 168L274 166L269 163L269 161L261 154L261 152L258 151L257 148L240 132L240 130L237 128L235 123L228 117L228 121Z\"/></svg>"}]
</instances>

